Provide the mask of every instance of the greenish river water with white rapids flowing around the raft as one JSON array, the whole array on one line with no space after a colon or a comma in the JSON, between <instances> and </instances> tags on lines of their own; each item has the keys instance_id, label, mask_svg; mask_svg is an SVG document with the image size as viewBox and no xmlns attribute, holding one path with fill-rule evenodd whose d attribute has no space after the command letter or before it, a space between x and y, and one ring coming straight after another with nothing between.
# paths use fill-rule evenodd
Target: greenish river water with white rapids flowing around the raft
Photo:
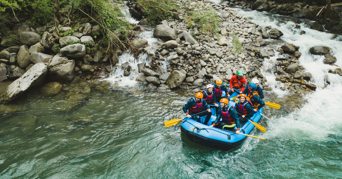
<instances>
[{"instance_id":1,"label":"greenish river water with white rapids flowing around the raft","mask_svg":"<svg viewBox=\"0 0 342 179\"><path fill-rule=\"evenodd\" d=\"M268 14L239 13L279 28L284 40L293 38L281 29L286 24L276 25ZM305 52L309 44L325 44L340 65L342 42L330 36L306 29L305 40L293 39L316 92L302 97L281 91L263 71L275 89L265 92L264 101L281 105L280 110L264 107L275 121L261 120L266 133L251 132L266 140L248 138L228 152L193 143L181 135L180 123L168 128L163 123L183 118L182 106L170 102L186 101L198 89L147 88L131 79L133 73L120 80L113 71L110 88L92 88L71 110L63 110L67 101L61 96L42 97L38 90L0 106L0 178L342 178L341 78L327 74L322 59ZM331 85L323 88L325 74Z\"/></svg>"}]
</instances>

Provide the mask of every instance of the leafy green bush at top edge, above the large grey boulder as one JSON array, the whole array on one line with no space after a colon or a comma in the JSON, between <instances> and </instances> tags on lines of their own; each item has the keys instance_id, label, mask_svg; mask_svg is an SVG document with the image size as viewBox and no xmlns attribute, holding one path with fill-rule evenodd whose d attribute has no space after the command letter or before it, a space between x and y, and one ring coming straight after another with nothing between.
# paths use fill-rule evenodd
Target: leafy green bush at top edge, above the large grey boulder
<instances>
[{"instance_id":1,"label":"leafy green bush at top edge, above the large grey boulder","mask_svg":"<svg viewBox=\"0 0 342 179\"><path fill-rule=\"evenodd\" d=\"M169 19L177 10L177 4L169 0L138 0L137 6L147 16L150 25Z\"/></svg>"}]
</instances>

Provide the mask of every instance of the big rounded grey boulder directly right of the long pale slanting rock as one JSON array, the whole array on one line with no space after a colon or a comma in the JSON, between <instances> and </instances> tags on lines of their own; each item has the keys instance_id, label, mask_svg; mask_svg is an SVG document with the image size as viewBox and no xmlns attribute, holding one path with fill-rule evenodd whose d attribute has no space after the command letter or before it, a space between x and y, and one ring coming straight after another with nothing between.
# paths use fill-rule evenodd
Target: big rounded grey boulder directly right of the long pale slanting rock
<instances>
[{"instance_id":1,"label":"big rounded grey boulder directly right of the long pale slanting rock","mask_svg":"<svg viewBox=\"0 0 342 179\"><path fill-rule=\"evenodd\" d=\"M48 77L51 81L72 81L75 75L74 69L75 60L55 55L50 62Z\"/></svg>"}]
</instances>

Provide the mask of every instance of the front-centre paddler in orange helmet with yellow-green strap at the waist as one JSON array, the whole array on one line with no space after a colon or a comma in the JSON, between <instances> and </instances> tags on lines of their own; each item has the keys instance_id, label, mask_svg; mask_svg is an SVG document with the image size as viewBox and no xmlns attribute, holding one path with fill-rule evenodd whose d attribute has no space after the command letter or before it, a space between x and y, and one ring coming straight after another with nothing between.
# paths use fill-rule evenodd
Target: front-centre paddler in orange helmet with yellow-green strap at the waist
<instances>
[{"instance_id":1,"label":"front-centre paddler in orange helmet with yellow-green strap at the waist","mask_svg":"<svg viewBox=\"0 0 342 179\"><path fill-rule=\"evenodd\" d=\"M211 124L210 127L233 131L234 127L236 126L236 134L240 134L240 120L237 116L235 108L233 106L228 106L229 100L226 98L222 98L220 102L221 108L216 114L216 120ZM221 118L222 121L220 122Z\"/></svg>"}]
</instances>

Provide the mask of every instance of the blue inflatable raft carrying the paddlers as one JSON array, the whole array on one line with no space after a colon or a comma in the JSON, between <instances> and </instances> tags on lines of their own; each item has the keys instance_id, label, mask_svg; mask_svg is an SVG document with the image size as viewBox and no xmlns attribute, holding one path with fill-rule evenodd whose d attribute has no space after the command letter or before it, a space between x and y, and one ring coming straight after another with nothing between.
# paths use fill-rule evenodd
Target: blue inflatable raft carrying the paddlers
<instances>
[{"instance_id":1,"label":"blue inflatable raft carrying the paddlers","mask_svg":"<svg viewBox=\"0 0 342 179\"><path fill-rule=\"evenodd\" d=\"M232 97L237 96L237 93L233 93ZM230 106L235 106L234 101L229 101ZM215 110L215 108L211 108ZM259 111L262 113L262 108ZM255 113L251 119L253 122L258 123L261 114ZM201 117L201 122L203 123L206 116ZM214 149L219 149L223 151L231 150L238 145L240 145L247 136L237 135L235 132L222 130L215 127L209 127L216 120L216 116L212 115L209 122L204 125L196 122L194 119L186 118L183 120L181 125L182 133L191 141L199 143L204 146L208 146ZM247 120L240 122L240 133L249 134L254 128L254 125ZM236 127L234 128L236 129Z\"/></svg>"}]
</instances>

